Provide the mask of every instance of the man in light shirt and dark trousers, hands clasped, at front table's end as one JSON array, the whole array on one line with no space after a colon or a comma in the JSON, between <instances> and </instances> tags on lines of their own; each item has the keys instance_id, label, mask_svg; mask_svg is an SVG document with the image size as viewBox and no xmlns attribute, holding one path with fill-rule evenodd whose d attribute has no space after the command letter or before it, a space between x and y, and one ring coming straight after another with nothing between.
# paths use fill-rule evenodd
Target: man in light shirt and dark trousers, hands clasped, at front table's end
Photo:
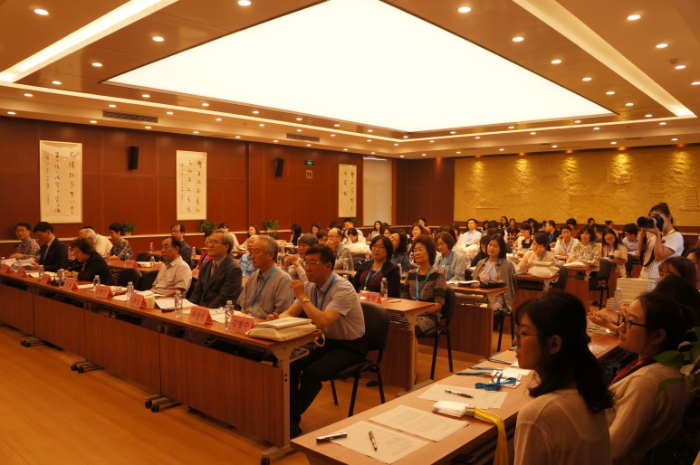
<instances>
[{"instance_id":1,"label":"man in light shirt and dark trousers, hands clasped, at front table's end","mask_svg":"<svg viewBox=\"0 0 700 465\"><path fill-rule=\"evenodd\" d=\"M360 299L349 280L333 272L335 255L322 245L306 252L308 282L292 281L296 300L281 315L268 319L298 317L302 312L323 331L326 342L294 361L290 367L290 436L302 433L302 413L321 391L321 382L346 366L360 363L367 355L365 318Z\"/></svg>"}]
</instances>

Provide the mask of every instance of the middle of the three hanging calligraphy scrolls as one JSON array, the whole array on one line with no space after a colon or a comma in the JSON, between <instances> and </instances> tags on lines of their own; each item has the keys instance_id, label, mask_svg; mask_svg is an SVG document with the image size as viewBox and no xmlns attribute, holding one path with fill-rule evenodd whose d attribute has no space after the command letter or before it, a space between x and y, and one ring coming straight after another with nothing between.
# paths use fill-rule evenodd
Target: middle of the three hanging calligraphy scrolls
<instances>
[{"instance_id":1,"label":"middle of the three hanging calligraphy scrolls","mask_svg":"<svg viewBox=\"0 0 700 465\"><path fill-rule=\"evenodd\" d=\"M206 152L177 150L177 220L206 219Z\"/></svg>"}]
</instances>

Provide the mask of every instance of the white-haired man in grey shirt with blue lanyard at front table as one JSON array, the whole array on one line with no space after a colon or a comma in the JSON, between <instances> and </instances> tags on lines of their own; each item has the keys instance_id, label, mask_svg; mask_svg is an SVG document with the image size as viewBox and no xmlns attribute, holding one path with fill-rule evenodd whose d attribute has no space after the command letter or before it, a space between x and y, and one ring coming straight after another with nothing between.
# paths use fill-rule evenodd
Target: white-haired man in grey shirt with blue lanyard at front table
<instances>
[{"instance_id":1,"label":"white-haired man in grey shirt with blue lanyard at front table","mask_svg":"<svg viewBox=\"0 0 700 465\"><path fill-rule=\"evenodd\" d=\"M270 236L261 235L252 246L248 246L248 251L258 270L250 275L236 303L255 318L283 312L292 305L292 278L274 264L277 261L277 242Z\"/></svg>"}]
</instances>

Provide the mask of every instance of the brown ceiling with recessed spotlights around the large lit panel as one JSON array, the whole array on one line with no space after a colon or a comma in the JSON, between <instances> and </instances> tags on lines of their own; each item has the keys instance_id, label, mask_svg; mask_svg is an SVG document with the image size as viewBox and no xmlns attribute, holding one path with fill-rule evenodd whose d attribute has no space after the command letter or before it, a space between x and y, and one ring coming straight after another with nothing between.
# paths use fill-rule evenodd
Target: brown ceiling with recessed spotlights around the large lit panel
<instances>
[{"instance_id":1,"label":"brown ceiling with recessed spotlights around the large lit panel","mask_svg":"<svg viewBox=\"0 0 700 465\"><path fill-rule=\"evenodd\" d=\"M259 102L205 99L206 76L201 92L187 93L107 83L178 52L325 4L302 0L251 0L248 6L238 3L0 0L0 115L347 150L377 157L480 157L700 143L700 121L695 116L700 115L700 30L695 27L700 24L700 4L695 0L384 2L609 111L599 116L503 120L405 132L370 126L367 121L284 111ZM112 26L92 39L81 38L53 60L39 60L23 69L26 59L86 24L104 20L110 12L144 4L150 5L133 13L128 24ZM460 7L470 11L460 13ZM49 14L34 14L35 8ZM629 20L630 14L640 18ZM164 40L155 42L153 37ZM514 37L523 41L513 42ZM328 38L318 38L324 40ZM279 41L280 52L289 53L283 47L284 37ZM666 47L657 48L664 43ZM302 65L322 67L327 62L304 50L293 53ZM396 66L392 58L385 57L387 67ZM441 69L438 58L446 59L436 52L435 61L424 60L425 67ZM456 62L459 58L447 60ZM235 56L221 60L235 61ZM556 60L561 62L552 63ZM361 63L347 66L361 67ZM238 69L254 73L250 62L242 62ZM382 72L376 68L366 71L369 75ZM176 77L164 76L164 84ZM420 90L421 96L431 91L430 83L426 89ZM359 91L347 84L338 89L350 96ZM306 97L312 100L313 95ZM410 92L405 96L407 101L414 97ZM542 104L546 100L543 97ZM465 121L485 110L465 108ZM133 120L125 115L147 118Z\"/></svg>"}]
</instances>

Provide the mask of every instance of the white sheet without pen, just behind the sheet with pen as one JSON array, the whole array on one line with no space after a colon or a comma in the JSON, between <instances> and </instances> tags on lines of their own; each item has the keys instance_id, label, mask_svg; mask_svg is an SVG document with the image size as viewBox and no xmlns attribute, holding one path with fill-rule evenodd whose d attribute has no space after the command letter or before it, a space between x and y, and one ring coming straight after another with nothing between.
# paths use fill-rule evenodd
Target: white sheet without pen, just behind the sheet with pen
<instances>
[{"instance_id":1,"label":"white sheet without pen, just behind the sheet with pen","mask_svg":"<svg viewBox=\"0 0 700 465\"><path fill-rule=\"evenodd\" d=\"M442 441L469 424L462 420L445 418L406 405L398 405L398 407L373 416L369 420L430 441Z\"/></svg>"}]
</instances>

